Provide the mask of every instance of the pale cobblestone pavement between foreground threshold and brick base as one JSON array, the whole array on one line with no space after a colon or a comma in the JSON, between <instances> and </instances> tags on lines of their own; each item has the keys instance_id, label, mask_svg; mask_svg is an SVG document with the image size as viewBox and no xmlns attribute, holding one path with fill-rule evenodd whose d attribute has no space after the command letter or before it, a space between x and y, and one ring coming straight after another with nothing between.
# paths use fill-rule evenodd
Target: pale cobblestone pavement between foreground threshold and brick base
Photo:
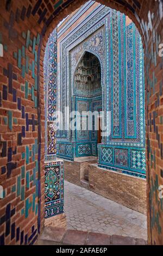
<instances>
[{"instance_id":1,"label":"pale cobblestone pavement between foreground threshold and brick base","mask_svg":"<svg viewBox=\"0 0 163 256\"><path fill-rule=\"evenodd\" d=\"M67 229L147 240L146 216L65 181Z\"/></svg>"}]
</instances>

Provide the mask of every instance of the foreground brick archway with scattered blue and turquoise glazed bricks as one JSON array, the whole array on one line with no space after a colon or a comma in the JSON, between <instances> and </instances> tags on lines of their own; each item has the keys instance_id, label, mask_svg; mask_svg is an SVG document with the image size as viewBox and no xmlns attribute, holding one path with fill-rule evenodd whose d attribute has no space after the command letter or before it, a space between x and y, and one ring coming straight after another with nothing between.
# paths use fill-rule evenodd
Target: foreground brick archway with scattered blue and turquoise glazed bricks
<instances>
[{"instance_id":1,"label":"foreground brick archway with scattered blue and turquoise glazed bricks","mask_svg":"<svg viewBox=\"0 0 163 256\"><path fill-rule=\"evenodd\" d=\"M22 229L27 225L26 230L22 230L24 233L27 233L35 223L37 223L36 233L43 227L43 138L45 137L43 56L48 36L58 22L85 2L86 0L55 1L55 3L50 0L1 1L0 43L3 45L4 57L0 58L2 148L0 165L3 173L2 185L9 196L1 200L0 204L2 216L5 214L14 216L11 231L18 222ZM145 0L99 0L98 2L128 15L142 35L145 51L148 242L161 244L163 243L162 200L158 198L158 192L159 186L163 185L163 64L158 53L159 44L163 42L162 1L151 0L148 1L148 5ZM34 109L30 104L34 105ZM36 145L36 147L30 148L30 145ZM21 154L24 149L26 149L26 161ZM32 157L30 154L36 155L36 166L35 159L29 163ZM33 200L32 194L35 190L34 187L30 187L29 180L27 184L29 201L26 200L24 205L26 199L22 189L24 168L26 168L26 175L29 173L29 176L30 169L36 168L38 172L38 199L37 204L33 205L32 215L28 215L28 210L32 207L29 202ZM28 175L26 182L29 179ZM17 185L17 194L13 196L10 192L14 191L14 184ZM17 199L16 196L20 196L20 188L21 199ZM18 211L16 215L14 211L11 214L10 209L14 208ZM24 211L25 219L21 216L21 211L22 215ZM29 222L32 224L29 225ZM8 223L3 224L5 229ZM13 241L16 243L16 237L12 237L15 240L10 241L4 236L2 230L1 237L5 243L14 243ZM26 241L26 236L23 237L24 243L30 243Z\"/></svg>"}]
</instances>

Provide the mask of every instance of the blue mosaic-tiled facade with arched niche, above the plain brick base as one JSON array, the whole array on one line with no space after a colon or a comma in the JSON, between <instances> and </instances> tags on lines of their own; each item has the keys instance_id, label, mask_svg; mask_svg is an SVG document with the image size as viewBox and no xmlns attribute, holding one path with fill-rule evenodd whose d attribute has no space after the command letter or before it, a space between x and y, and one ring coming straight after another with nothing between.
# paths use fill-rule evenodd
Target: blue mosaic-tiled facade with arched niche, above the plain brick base
<instances>
[{"instance_id":1,"label":"blue mosaic-tiled facade with arched niche, above the plain brick base","mask_svg":"<svg viewBox=\"0 0 163 256\"><path fill-rule=\"evenodd\" d=\"M63 121L57 133L57 156L72 161L74 157L98 156L100 167L122 169L122 173L146 178L146 162L143 159L145 88L141 36L128 17L104 5L95 5L89 14L82 15L82 11L90 9L90 4L93 2L83 5L68 20L71 26L75 24L73 30L66 32L66 22L61 32L58 32L60 62L57 108L63 113ZM83 17L80 22L76 21L79 15ZM89 65L82 66L86 63L85 56L89 57L90 62L92 56L97 58L96 66L99 65L101 73L101 86L95 87L92 92L87 88L88 78L84 78L86 69L92 72ZM81 69L82 76L79 76ZM95 79L93 81L95 85L97 82ZM66 106L71 106L70 113L104 112L103 127L106 127L108 135L103 136L102 144L97 145L96 116L92 119L91 131L88 130L91 119L86 114L79 114L76 123L85 123L87 130L78 130L78 127L76 131L66 130L66 123L71 123L71 117L67 120L64 114ZM133 154L135 150L139 154ZM134 161L137 164L133 166Z\"/></svg>"}]
</instances>

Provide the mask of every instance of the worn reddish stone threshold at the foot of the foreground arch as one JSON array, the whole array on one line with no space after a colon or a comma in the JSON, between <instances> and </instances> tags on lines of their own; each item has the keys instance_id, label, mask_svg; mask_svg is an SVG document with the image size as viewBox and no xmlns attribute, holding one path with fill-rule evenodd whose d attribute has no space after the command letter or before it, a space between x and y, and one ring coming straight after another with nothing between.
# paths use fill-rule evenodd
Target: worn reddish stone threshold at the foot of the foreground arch
<instances>
[{"instance_id":1,"label":"worn reddish stone threshold at the foot of the foreground arch","mask_svg":"<svg viewBox=\"0 0 163 256\"><path fill-rule=\"evenodd\" d=\"M35 245L147 245L143 239L45 227Z\"/></svg>"}]
</instances>

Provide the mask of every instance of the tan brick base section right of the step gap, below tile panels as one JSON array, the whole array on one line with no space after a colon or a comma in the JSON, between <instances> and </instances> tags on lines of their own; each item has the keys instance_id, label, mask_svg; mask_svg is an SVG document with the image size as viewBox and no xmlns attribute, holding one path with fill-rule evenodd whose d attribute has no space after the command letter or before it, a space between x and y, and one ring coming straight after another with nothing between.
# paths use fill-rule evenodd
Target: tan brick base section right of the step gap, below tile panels
<instances>
[{"instance_id":1,"label":"tan brick base section right of the step gap, below tile panels","mask_svg":"<svg viewBox=\"0 0 163 256\"><path fill-rule=\"evenodd\" d=\"M90 190L130 209L147 214L147 181L89 166Z\"/></svg>"}]
</instances>

